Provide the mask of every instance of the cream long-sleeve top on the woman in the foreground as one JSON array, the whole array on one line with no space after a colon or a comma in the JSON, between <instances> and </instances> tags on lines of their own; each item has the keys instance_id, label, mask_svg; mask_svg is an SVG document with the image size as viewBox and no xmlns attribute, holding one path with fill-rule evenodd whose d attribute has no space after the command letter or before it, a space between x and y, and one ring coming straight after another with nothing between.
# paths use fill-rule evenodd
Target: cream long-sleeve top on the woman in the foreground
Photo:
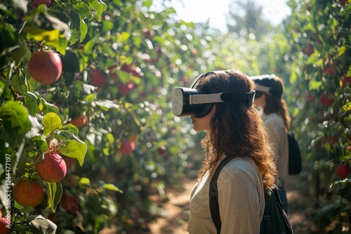
<instances>
[{"instance_id":1,"label":"cream long-sleeve top on the woman in the foreground","mask_svg":"<svg viewBox=\"0 0 351 234\"><path fill-rule=\"evenodd\" d=\"M210 181L206 172L192 189L187 226L190 234L217 233L209 207ZM217 183L221 233L260 233L265 195L260 172L253 160L234 158L220 171Z\"/></svg>"}]
</instances>

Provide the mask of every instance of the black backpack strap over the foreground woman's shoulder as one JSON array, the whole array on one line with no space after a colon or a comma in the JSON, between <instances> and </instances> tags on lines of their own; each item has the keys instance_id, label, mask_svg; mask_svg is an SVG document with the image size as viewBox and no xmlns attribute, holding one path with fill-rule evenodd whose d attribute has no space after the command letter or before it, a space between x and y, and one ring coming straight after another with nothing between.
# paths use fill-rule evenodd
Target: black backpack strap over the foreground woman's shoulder
<instances>
[{"instance_id":1,"label":"black backpack strap over the foreground woman's shoulder","mask_svg":"<svg viewBox=\"0 0 351 234\"><path fill-rule=\"evenodd\" d=\"M215 173L210 182L209 188L209 202L210 202L210 209L211 209L211 216L213 223L217 228L217 233L220 233L220 227L222 226L222 222L220 221L220 214L219 214L219 205L218 205L218 187L217 187L217 179L218 175L220 174L220 170L230 161L232 157L225 157L218 167L216 168Z\"/></svg>"}]
</instances>

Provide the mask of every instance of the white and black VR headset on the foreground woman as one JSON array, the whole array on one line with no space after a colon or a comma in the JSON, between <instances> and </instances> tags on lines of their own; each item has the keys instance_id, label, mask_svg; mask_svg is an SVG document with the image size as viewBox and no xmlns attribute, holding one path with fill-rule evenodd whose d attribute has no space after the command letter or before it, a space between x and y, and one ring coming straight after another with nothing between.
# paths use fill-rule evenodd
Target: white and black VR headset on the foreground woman
<instances>
[{"instance_id":1,"label":"white and black VR headset on the foreground woman","mask_svg":"<svg viewBox=\"0 0 351 234\"><path fill-rule=\"evenodd\" d=\"M255 91L206 93L206 90L198 83L201 77L209 74L216 74L216 72L209 71L201 74L190 88L173 88L172 111L175 116L194 115L197 118L201 118L206 116L211 111L213 103L217 102L246 102L249 105L253 104Z\"/></svg>"}]
</instances>

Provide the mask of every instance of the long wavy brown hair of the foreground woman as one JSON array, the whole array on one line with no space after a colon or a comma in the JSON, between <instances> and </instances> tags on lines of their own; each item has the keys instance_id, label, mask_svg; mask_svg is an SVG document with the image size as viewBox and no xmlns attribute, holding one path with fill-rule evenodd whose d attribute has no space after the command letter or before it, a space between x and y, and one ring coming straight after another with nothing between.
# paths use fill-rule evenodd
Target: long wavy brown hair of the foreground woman
<instances>
[{"instance_id":1,"label":"long wavy brown hair of the foreground woman","mask_svg":"<svg viewBox=\"0 0 351 234\"><path fill-rule=\"evenodd\" d=\"M201 78L200 83L211 93L251 92L255 87L244 73L234 69L208 74ZM252 158L265 187L274 184L277 176L274 153L268 143L263 120L253 105L245 102L216 103L216 113L210 125L211 132L207 132L201 140L206 156L199 178L208 170L213 174L224 153L232 157Z\"/></svg>"}]
</instances>

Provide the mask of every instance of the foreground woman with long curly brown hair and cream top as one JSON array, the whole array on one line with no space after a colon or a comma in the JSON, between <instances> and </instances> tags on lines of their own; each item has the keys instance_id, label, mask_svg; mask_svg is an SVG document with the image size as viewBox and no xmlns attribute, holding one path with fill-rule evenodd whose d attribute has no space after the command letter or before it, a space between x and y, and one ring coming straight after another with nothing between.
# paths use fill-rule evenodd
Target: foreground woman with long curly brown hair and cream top
<instances>
[{"instance_id":1,"label":"foreground woman with long curly brown hair and cream top","mask_svg":"<svg viewBox=\"0 0 351 234\"><path fill-rule=\"evenodd\" d=\"M249 94L255 83L230 69L203 74L194 88L207 94ZM206 131L201 140L206 155L191 194L188 232L217 233L208 203L209 183L218 163L230 156L233 159L220 171L217 182L221 233L260 233L264 188L274 184L277 171L258 111L252 102L233 100L213 103L205 116L192 114L191 118L194 130Z\"/></svg>"}]
</instances>

